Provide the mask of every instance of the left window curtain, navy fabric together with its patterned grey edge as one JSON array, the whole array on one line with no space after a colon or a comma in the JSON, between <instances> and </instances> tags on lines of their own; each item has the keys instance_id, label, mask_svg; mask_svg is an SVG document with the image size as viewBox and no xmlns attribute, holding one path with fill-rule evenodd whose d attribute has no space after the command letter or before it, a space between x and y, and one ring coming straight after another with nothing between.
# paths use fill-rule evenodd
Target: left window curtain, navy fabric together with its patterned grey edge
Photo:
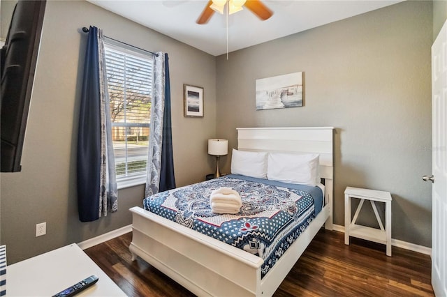
<instances>
[{"instance_id":1,"label":"left window curtain, navy fabric together with its patterned grey edge","mask_svg":"<svg viewBox=\"0 0 447 297\"><path fill-rule=\"evenodd\" d=\"M117 210L115 158L102 31L90 26L78 128L78 211L81 222L98 220ZM109 208L110 207L110 208Z\"/></svg>"}]
</instances>

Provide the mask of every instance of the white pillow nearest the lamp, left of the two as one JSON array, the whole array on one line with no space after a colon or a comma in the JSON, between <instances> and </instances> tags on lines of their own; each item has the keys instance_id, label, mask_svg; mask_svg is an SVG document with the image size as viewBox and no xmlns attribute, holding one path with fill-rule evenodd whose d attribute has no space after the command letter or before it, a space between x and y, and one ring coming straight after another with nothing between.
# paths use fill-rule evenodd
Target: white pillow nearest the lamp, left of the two
<instances>
[{"instance_id":1,"label":"white pillow nearest the lamp, left of the two","mask_svg":"<svg viewBox=\"0 0 447 297\"><path fill-rule=\"evenodd\" d=\"M267 178L267 153L237 151L233 148L231 173L256 178Z\"/></svg>"}]
</instances>

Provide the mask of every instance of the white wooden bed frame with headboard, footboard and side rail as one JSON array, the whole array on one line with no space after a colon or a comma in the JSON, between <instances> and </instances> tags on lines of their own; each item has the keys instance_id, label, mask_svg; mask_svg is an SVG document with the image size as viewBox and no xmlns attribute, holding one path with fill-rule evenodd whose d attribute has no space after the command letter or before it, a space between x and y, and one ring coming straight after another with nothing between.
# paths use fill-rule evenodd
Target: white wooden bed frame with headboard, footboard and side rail
<instances>
[{"instance_id":1,"label":"white wooden bed frame with headboard, footboard and side rail","mask_svg":"<svg viewBox=\"0 0 447 297\"><path fill-rule=\"evenodd\" d=\"M298 238L281 252L281 257L274 259L269 269L259 254L199 233L185 222L178 224L163 218L156 214L155 208L153 213L138 206L131 208L133 238L129 250L133 259L144 259L198 296L272 296L318 230L323 225L332 229L332 137L332 127L237 128L238 151L319 155L318 169L324 183L321 211L312 219L304 219L306 228L302 227ZM224 176L208 181L207 185L217 187L224 181L234 186L243 182L240 176ZM165 208L172 211L173 205ZM151 207L155 206L149 206L152 210ZM252 225L249 223L247 227Z\"/></svg>"}]
</instances>

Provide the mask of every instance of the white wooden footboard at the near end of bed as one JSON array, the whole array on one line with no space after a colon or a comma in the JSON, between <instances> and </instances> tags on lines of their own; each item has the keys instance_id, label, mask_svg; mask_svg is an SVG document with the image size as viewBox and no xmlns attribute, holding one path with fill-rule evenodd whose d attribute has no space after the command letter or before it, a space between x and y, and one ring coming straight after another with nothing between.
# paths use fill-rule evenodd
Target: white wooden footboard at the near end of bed
<instances>
[{"instance_id":1,"label":"white wooden footboard at the near end of bed","mask_svg":"<svg viewBox=\"0 0 447 297\"><path fill-rule=\"evenodd\" d=\"M198 296L256 296L263 259L140 207L129 249Z\"/></svg>"}]
</instances>

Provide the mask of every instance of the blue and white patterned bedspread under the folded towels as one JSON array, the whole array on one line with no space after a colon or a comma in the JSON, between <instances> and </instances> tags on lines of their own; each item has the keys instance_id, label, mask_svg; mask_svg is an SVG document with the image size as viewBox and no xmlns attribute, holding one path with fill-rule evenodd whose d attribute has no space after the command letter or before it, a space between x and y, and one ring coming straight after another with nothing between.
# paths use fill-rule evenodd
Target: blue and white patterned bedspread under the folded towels
<instances>
[{"instance_id":1,"label":"blue and white patterned bedspread under the folded towels","mask_svg":"<svg viewBox=\"0 0 447 297\"><path fill-rule=\"evenodd\" d=\"M240 213L212 213L212 190L228 187L242 198ZM264 259L261 277L274 266L323 207L318 187L230 174L147 197L147 211Z\"/></svg>"}]
</instances>

